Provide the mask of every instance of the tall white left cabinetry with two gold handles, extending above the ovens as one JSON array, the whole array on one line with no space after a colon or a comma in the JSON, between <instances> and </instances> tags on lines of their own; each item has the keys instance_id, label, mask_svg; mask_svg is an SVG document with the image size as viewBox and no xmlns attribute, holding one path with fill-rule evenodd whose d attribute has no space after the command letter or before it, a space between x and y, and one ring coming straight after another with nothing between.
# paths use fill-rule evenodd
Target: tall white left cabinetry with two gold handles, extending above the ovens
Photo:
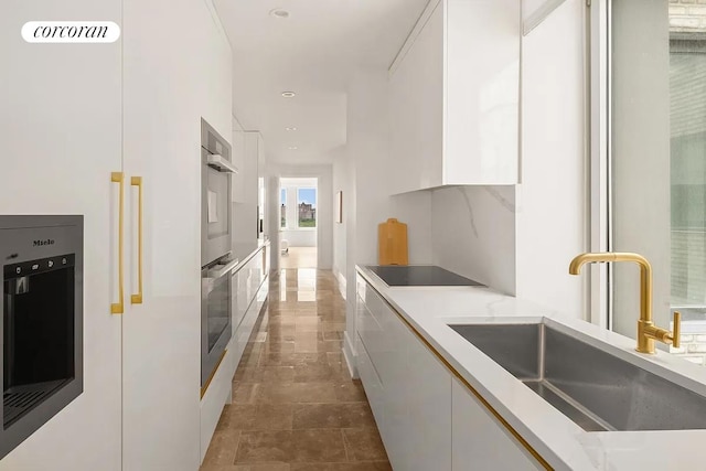
<instances>
[{"instance_id":1,"label":"tall white left cabinetry with two gold handles, extending above the ovens","mask_svg":"<svg viewBox=\"0 0 706 471\"><path fill-rule=\"evenodd\" d=\"M19 34L28 19L67 11L118 23L120 40L47 46ZM154 18L193 34L164 35ZM200 118L229 135L227 39L200 1L3 2L0 26L0 214L81 214L85 224L84 392L0 470L195 470ZM125 182L121 315L110 313L120 227L111 172Z\"/></svg>"}]
</instances>

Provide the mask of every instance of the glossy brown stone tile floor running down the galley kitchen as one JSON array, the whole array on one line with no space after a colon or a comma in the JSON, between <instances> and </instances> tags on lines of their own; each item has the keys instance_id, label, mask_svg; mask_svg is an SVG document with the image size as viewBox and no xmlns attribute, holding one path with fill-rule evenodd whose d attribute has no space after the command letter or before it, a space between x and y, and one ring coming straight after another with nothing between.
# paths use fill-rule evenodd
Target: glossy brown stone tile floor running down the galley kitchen
<instances>
[{"instance_id":1,"label":"glossy brown stone tile floor running down the galley kitchen","mask_svg":"<svg viewBox=\"0 0 706 471\"><path fill-rule=\"evenodd\" d=\"M282 269L271 278L202 471L391 470L341 353L345 301L333 274Z\"/></svg>"}]
</instances>

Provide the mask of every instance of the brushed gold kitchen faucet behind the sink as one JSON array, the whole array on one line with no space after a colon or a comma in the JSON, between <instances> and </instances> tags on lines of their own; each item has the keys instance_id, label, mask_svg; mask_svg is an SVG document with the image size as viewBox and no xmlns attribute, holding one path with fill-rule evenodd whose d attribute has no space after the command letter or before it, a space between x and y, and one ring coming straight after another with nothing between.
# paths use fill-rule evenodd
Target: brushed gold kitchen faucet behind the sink
<instances>
[{"instance_id":1,"label":"brushed gold kitchen faucet behind the sink","mask_svg":"<svg viewBox=\"0 0 706 471\"><path fill-rule=\"evenodd\" d=\"M640 320L638 321L638 346L640 353L654 354L654 341L672 344L680 347L680 334L682 331L682 314L674 312L674 331L659 328L652 321L652 266L640 254L624 251L607 251L598 254L580 254L574 257L569 265L569 274L578 275L585 264L633 261L640 266Z\"/></svg>"}]
</instances>

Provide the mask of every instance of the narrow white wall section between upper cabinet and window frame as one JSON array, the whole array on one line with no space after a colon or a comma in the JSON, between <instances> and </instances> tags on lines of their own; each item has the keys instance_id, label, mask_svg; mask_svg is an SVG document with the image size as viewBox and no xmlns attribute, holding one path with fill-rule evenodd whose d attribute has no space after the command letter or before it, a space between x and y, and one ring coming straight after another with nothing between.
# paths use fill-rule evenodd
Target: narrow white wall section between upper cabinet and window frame
<instances>
[{"instance_id":1,"label":"narrow white wall section between upper cabinet and window frame","mask_svg":"<svg viewBox=\"0 0 706 471\"><path fill-rule=\"evenodd\" d=\"M586 251L582 0L567 0L523 39L522 184L516 189L516 296L574 318Z\"/></svg>"}]
</instances>

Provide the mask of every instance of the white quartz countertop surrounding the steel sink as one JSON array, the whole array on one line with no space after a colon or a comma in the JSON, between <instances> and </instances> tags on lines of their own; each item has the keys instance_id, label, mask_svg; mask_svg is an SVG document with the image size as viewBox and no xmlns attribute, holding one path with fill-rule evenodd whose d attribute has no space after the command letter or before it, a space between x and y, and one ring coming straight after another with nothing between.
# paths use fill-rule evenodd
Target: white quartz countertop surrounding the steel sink
<instances>
[{"instance_id":1,"label":"white quartz countertop surrounding the steel sink","mask_svg":"<svg viewBox=\"0 0 706 471\"><path fill-rule=\"evenodd\" d=\"M457 334L449 323L536 322L548 318L607 342L623 358L706 395L706 368L659 352L641 355L634 341L489 288L391 288L365 267L359 274L557 470L706 469L706 430L587 432ZM638 309L635 308L635 321Z\"/></svg>"}]
</instances>

